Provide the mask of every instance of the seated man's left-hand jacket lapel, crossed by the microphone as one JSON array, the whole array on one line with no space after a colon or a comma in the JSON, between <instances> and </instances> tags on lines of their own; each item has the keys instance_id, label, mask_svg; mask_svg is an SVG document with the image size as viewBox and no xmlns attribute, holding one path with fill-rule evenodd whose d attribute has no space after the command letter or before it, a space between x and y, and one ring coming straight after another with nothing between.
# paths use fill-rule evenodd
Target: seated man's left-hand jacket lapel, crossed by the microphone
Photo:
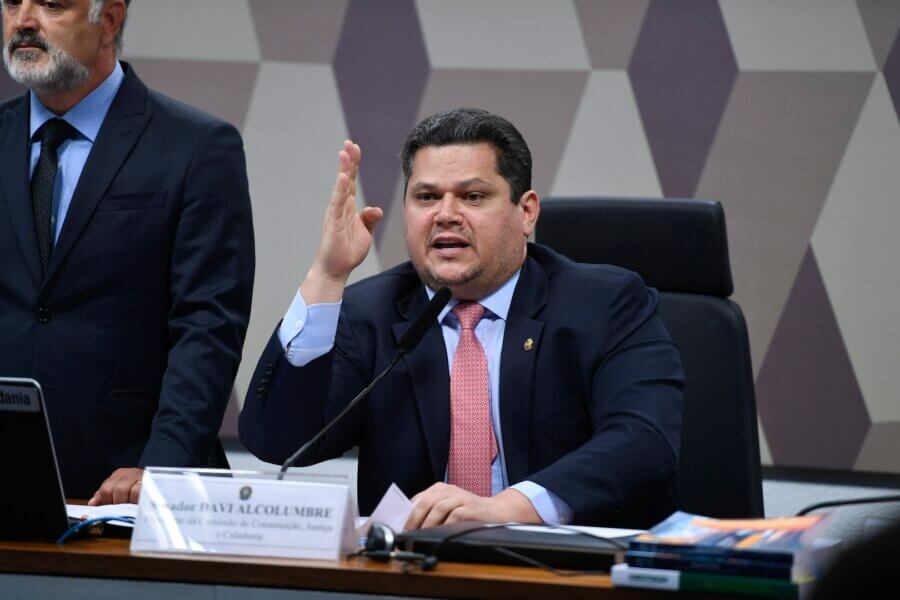
<instances>
[{"instance_id":1,"label":"seated man's left-hand jacket lapel, crossed by the microphone","mask_svg":"<svg viewBox=\"0 0 900 600\"><path fill-rule=\"evenodd\" d=\"M395 340L399 342L427 302L428 297L420 285L397 303L401 320L393 325ZM403 360L412 379L434 480L443 481L450 453L450 372L444 336L436 321L428 328L416 349L405 355Z\"/></svg>"}]
</instances>

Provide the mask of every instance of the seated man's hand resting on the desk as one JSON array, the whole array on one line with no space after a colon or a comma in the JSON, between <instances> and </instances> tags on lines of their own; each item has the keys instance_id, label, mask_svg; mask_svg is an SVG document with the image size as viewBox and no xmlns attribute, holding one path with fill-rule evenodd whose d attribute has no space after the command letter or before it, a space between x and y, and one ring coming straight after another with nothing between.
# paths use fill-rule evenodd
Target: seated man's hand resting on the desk
<instances>
[{"instance_id":1,"label":"seated man's hand resting on the desk","mask_svg":"<svg viewBox=\"0 0 900 600\"><path fill-rule=\"evenodd\" d=\"M407 529L434 527L459 521L485 523L541 523L531 501L512 488L484 498L446 483L435 483L413 496L416 507L406 521Z\"/></svg>"}]
</instances>

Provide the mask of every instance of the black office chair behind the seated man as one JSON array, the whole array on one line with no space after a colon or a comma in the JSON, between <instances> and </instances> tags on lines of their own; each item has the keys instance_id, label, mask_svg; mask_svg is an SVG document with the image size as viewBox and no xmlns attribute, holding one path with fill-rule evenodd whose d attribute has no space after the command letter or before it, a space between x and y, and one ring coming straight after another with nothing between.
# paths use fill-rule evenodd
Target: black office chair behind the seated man
<instances>
[{"instance_id":1,"label":"black office chair behind the seated man","mask_svg":"<svg viewBox=\"0 0 900 600\"><path fill-rule=\"evenodd\" d=\"M547 198L536 240L586 263L635 271L659 290L678 344L685 406L676 488L683 510L763 516L756 396L747 325L728 261L718 202Z\"/></svg>"}]
</instances>

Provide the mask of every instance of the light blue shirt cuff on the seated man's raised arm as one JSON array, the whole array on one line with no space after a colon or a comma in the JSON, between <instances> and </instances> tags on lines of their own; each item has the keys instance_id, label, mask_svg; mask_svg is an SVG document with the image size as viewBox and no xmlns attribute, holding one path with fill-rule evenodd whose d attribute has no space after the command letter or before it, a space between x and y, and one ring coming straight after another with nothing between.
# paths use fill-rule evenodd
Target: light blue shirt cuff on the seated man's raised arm
<instances>
[{"instance_id":1,"label":"light blue shirt cuff on the seated man's raised arm","mask_svg":"<svg viewBox=\"0 0 900 600\"><path fill-rule=\"evenodd\" d=\"M300 291L278 327L278 341L288 362L302 367L331 351L337 333L340 302L310 304Z\"/></svg>"}]
</instances>

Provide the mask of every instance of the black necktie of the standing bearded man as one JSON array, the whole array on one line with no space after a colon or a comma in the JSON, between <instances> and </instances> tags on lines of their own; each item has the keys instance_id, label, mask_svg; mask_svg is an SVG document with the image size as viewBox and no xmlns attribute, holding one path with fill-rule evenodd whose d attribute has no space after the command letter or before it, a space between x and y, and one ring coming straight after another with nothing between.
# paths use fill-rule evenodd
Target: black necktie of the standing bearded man
<instances>
[{"instance_id":1,"label":"black necktie of the standing bearded man","mask_svg":"<svg viewBox=\"0 0 900 600\"><path fill-rule=\"evenodd\" d=\"M41 157L31 177L31 208L34 211L34 229L41 251L41 266L44 273L50 264L53 250L53 231L50 226L50 210L53 206L53 186L59 159L56 152L67 139L75 136L75 129L62 119L50 119L35 133L34 139L41 142Z\"/></svg>"}]
</instances>

